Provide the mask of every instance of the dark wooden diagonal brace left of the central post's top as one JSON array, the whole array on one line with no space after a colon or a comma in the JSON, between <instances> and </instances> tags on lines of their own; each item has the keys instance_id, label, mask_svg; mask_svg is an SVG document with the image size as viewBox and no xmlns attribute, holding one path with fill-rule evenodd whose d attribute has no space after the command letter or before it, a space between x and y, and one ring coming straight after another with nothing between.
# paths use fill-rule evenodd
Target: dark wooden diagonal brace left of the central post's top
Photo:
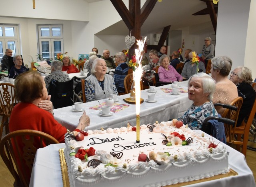
<instances>
[{"instance_id":1,"label":"dark wooden diagonal brace left of the central post's top","mask_svg":"<svg viewBox=\"0 0 256 187\"><path fill-rule=\"evenodd\" d=\"M134 28L134 18L122 0L110 0L129 30ZM130 3L129 3L130 4Z\"/></svg>"}]
</instances>

